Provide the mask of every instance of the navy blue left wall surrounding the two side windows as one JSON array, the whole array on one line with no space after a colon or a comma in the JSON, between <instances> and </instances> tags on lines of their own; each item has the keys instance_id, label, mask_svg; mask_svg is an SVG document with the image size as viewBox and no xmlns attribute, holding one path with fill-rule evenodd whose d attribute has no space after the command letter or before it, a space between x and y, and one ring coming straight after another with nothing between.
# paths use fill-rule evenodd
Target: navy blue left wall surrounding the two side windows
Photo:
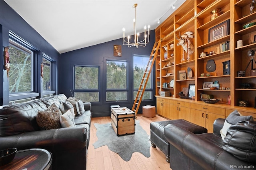
<instances>
[{"instance_id":1,"label":"navy blue left wall surrounding the two side windows","mask_svg":"<svg viewBox=\"0 0 256 170\"><path fill-rule=\"evenodd\" d=\"M36 20L36 18L35 18ZM30 43L38 49L37 65L34 70L38 79L35 80L35 89L40 89L40 63L42 62L42 52L46 53L56 61L57 67L59 65L60 54L56 51L50 43L48 43L38 32L36 32L25 20L23 20L4 0L0 0L0 105L6 105L9 102L9 90L6 71L3 70L3 50L9 45L9 30L20 36L26 42ZM58 69L56 70L56 79L58 79ZM3 76L2 76L3 75ZM56 81L57 82L57 81ZM56 86L56 93L58 93L58 84ZM36 92L40 93L39 90ZM40 94L39 97L41 97Z\"/></svg>"}]
</instances>

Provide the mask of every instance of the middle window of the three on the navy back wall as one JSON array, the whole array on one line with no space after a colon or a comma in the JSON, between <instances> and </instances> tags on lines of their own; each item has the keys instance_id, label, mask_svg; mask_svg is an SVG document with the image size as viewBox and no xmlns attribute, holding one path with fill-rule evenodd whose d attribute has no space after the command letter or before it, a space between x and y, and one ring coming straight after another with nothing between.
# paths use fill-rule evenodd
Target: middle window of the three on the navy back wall
<instances>
[{"instance_id":1,"label":"middle window of the three on the navy back wall","mask_svg":"<svg viewBox=\"0 0 256 170\"><path fill-rule=\"evenodd\" d=\"M127 101L127 61L106 61L106 101Z\"/></svg>"}]
</instances>

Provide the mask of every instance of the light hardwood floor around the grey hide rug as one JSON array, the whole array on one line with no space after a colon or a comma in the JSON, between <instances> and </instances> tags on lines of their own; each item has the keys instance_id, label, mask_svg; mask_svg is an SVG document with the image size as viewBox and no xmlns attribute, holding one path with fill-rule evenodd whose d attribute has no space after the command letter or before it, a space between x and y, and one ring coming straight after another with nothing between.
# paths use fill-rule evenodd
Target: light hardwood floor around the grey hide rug
<instances>
[{"instance_id":1,"label":"light hardwood floor around the grey hide rug","mask_svg":"<svg viewBox=\"0 0 256 170\"><path fill-rule=\"evenodd\" d=\"M150 145L150 157L146 158L139 152L132 154L128 162L108 149L108 146L102 146L94 149L94 142L98 140L94 123L110 123L110 117L92 118L90 128L90 144L88 148L87 170L170 170L170 164L166 162L165 156L158 148ZM150 122L166 121L165 118L156 115L154 118L142 117L137 115L140 126L150 135ZM150 142L150 141L149 141Z\"/></svg>"}]
</instances>

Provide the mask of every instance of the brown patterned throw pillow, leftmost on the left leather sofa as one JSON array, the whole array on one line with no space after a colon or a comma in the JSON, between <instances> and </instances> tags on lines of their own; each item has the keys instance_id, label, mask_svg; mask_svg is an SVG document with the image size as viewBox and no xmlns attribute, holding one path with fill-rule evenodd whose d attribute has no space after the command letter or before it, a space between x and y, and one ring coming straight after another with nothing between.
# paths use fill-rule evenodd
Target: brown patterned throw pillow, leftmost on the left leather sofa
<instances>
[{"instance_id":1,"label":"brown patterned throw pillow, leftmost on the left leather sofa","mask_svg":"<svg viewBox=\"0 0 256 170\"><path fill-rule=\"evenodd\" d=\"M61 128L60 115L60 109L53 103L45 111L38 111L36 122L41 130Z\"/></svg>"}]
</instances>

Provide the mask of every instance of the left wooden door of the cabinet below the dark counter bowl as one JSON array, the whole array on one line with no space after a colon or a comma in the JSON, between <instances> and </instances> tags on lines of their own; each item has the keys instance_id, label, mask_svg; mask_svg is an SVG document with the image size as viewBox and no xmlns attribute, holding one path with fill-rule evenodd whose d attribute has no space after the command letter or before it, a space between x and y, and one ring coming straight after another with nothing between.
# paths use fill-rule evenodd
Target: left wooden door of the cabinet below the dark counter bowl
<instances>
[{"instance_id":1,"label":"left wooden door of the cabinet below the dark counter bowl","mask_svg":"<svg viewBox=\"0 0 256 170\"><path fill-rule=\"evenodd\" d=\"M202 127L205 127L205 112L196 110L196 109L190 109L190 122L200 125Z\"/></svg>"}]
</instances>

